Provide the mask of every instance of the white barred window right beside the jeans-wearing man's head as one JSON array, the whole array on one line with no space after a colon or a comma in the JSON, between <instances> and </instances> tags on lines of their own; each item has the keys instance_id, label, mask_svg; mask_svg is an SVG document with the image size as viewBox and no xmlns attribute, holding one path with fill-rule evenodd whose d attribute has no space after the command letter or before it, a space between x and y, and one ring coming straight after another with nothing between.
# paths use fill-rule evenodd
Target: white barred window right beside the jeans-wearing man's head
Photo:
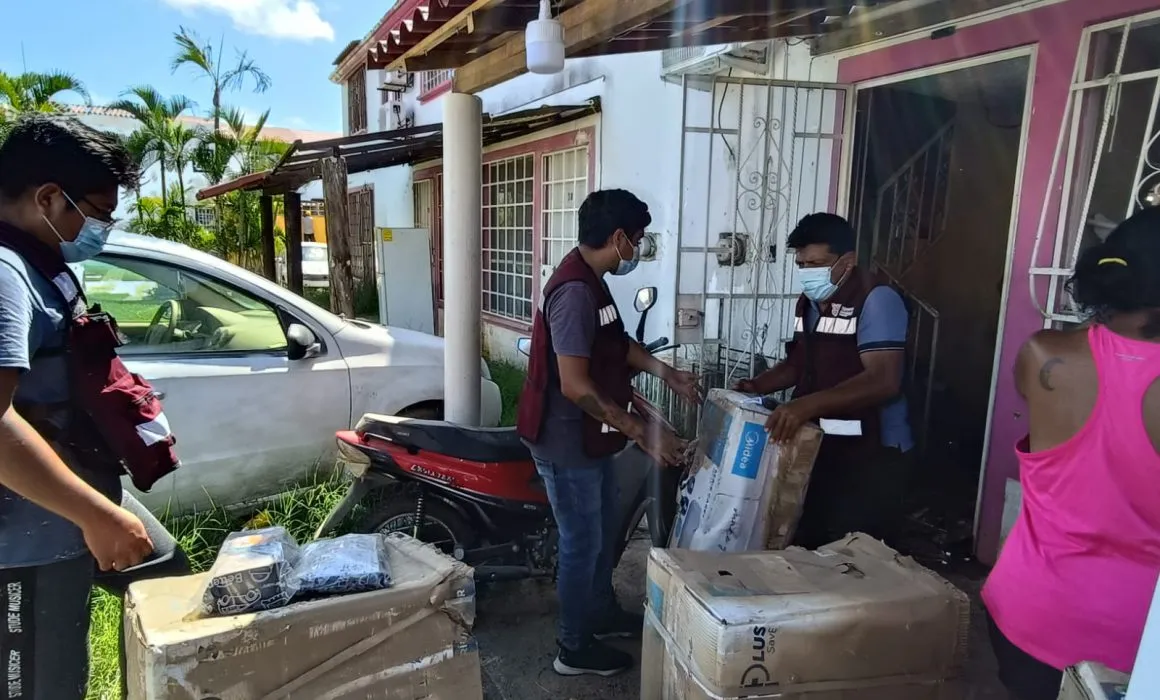
<instances>
[{"instance_id":1,"label":"white barred window right beside the jeans-wearing man's head","mask_svg":"<svg viewBox=\"0 0 1160 700\"><path fill-rule=\"evenodd\" d=\"M577 245L577 211L588 196L588 147L544 156L541 265L554 268Z\"/></svg>"}]
</instances>

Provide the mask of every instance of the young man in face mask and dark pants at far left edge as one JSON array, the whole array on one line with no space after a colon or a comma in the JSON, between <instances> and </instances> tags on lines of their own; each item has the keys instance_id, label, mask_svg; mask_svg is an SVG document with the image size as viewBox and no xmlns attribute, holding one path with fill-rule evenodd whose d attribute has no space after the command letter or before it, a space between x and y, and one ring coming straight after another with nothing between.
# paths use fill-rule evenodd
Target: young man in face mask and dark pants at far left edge
<instances>
[{"instance_id":1,"label":"young man in face mask and dark pants at far left edge","mask_svg":"<svg viewBox=\"0 0 1160 700\"><path fill-rule=\"evenodd\" d=\"M135 576L124 571L143 562L161 562L152 576L188 569L165 528L122 493L119 472L45 439L43 426L65 434L71 420L61 406L75 387L65 352L74 313L17 252L58 265L95 257L117 188L137 176L115 136L75 120L23 117L0 144L0 654L9 697L85 698L93 584L123 592Z\"/></svg>"}]
</instances>

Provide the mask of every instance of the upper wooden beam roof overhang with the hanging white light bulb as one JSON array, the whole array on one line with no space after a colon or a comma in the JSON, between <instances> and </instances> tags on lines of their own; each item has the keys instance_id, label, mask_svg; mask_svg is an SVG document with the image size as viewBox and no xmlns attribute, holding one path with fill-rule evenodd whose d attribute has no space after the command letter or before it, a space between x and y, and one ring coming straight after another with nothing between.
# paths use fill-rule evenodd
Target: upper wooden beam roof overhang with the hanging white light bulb
<instances>
[{"instance_id":1,"label":"upper wooden beam roof overhang with the hanging white light bulb","mask_svg":"<svg viewBox=\"0 0 1160 700\"><path fill-rule=\"evenodd\" d=\"M914 0L559 0L568 57L819 36L876 6ZM399 0L335 72L464 68L473 93L524 72L538 0Z\"/></svg>"}]
</instances>

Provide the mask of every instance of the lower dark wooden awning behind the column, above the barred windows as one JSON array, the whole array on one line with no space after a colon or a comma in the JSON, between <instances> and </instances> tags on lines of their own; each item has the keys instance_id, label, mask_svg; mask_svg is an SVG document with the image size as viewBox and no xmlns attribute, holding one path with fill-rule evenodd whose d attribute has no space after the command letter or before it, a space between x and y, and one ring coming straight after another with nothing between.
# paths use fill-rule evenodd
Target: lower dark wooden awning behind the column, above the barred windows
<instances>
[{"instance_id":1,"label":"lower dark wooden awning behind the column, above the barred windows","mask_svg":"<svg viewBox=\"0 0 1160 700\"><path fill-rule=\"evenodd\" d=\"M583 104L539 107L498 116L484 115L483 145L487 147L501 144L599 111L600 99L594 98ZM209 200L234 190L262 192L268 195L297 192L307 182L319 179L322 159L332 156L343 158L349 173L435 160L443 157L443 125L428 124L310 143L296 142L274 168L206 187L197 193L197 199Z\"/></svg>"}]
</instances>

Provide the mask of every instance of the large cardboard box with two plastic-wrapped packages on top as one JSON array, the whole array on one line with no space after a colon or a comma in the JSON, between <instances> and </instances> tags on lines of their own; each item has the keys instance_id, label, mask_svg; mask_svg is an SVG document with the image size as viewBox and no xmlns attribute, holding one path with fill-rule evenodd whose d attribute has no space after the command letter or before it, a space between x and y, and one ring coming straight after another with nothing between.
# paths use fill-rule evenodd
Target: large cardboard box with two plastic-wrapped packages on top
<instances>
[{"instance_id":1,"label":"large cardboard box with two plastic-wrapped packages on top","mask_svg":"<svg viewBox=\"0 0 1160 700\"><path fill-rule=\"evenodd\" d=\"M390 589L246 615L182 621L204 576L133 584L129 697L481 699L471 568L404 535L387 546Z\"/></svg>"}]
</instances>

